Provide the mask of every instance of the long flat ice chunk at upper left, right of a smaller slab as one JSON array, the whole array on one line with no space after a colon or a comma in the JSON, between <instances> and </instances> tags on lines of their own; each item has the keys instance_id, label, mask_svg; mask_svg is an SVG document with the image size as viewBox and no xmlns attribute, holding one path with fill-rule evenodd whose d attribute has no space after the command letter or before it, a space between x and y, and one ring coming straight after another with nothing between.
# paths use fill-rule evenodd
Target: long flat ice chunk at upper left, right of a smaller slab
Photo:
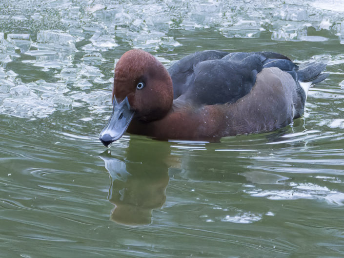
<instances>
[{"instance_id":1,"label":"long flat ice chunk at upper left, right of a smaller slab","mask_svg":"<svg viewBox=\"0 0 344 258\"><path fill-rule=\"evenodd\" d=\"M61 30L41 30L37 33L37 42L69 46L74 45L76 38Z\"/></svg>"}]
</instances>

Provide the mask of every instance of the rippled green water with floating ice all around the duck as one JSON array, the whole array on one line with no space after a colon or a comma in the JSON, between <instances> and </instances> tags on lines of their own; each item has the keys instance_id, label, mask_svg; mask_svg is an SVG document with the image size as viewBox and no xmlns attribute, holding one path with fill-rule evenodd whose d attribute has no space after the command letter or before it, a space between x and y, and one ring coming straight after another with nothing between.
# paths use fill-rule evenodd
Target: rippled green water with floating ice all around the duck
<instances>
[{"instance_id":1,"label":"rippled green water with floating ice all around the duck","mask_svg":"<svg viewBox=\"0 0 344 258\"><path fill-rule=\"evenodd\" d=\"M344 257L343 3L0 1L0 257ZM327 62L305 114L102 146L113 69L205 49Z\"/></svg>"}]
</instances>

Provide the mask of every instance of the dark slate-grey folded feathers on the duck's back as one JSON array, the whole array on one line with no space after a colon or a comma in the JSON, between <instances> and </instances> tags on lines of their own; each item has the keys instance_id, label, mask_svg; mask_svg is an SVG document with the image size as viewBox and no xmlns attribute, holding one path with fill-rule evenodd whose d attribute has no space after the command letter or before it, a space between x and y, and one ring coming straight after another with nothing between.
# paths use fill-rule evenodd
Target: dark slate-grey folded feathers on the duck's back
<instances>
[{"instance_id":1,"label":"dark slate-grey folded feathers on the duck's back","mask_svg":"<svg viewBox=\"0 0 344 258\"><path fill-rule=\"evenodd\" d=\"M272 52L227 53L202 51L174 63L168 72L174 99L182 96L195 104L232 103L252 89L263 68L278 67L297 80L298 66Z\"/></svg>"}]
</instances>

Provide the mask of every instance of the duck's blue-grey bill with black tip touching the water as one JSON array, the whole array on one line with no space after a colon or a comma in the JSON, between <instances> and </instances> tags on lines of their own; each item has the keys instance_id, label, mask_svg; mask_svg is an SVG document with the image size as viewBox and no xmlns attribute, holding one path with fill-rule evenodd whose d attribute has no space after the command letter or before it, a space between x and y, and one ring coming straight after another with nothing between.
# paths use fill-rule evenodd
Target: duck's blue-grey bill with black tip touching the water
<instances>
[{"instance_id":1,"label":"duck's blue-grey bill with black tip touching the water","mask_svg":"<svg viewBox=\"0 0 344 258\"><path fill-rule=\"evenodd\" d=\"M120 139L133 116L134 111L130 110L128 98L123 99L121 103L114 99L112 115L99 136L101 142L107 147L111 142Z\"/></svg>"}]
</instances>

